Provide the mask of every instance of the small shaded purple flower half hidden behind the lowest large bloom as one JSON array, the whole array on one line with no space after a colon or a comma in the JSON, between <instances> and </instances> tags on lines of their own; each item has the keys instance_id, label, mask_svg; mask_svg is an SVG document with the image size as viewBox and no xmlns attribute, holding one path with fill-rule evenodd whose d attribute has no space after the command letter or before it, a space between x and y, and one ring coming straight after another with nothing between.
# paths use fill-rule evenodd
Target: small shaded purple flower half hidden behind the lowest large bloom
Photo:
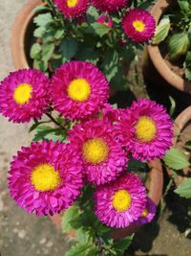
<instances>
[{"instance_id":1,"label":"small shaded purple flower half hidden behind the lowest large bloom","mask_svg":"<svg viewBox=\"0 0 191 256\"><path fill-rule=\"evenodd\" d=\"M152 199L147 198L146 206L143 209L140 217L138 218L138 223L140 225L146 224L148 222L153 221L156 215L156 205L152 201Z\"/></svg>"}]
</instances>

